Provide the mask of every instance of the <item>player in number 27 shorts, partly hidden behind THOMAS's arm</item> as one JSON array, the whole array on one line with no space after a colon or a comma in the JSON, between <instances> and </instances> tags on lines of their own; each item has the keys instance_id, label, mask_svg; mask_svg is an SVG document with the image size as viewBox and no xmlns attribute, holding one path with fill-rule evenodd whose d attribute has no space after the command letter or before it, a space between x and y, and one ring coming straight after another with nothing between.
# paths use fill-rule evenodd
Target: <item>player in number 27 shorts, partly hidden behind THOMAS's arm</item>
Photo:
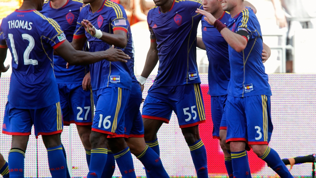
<instances>
[{"instance_id":1,"label":"player in number 27 shorts, partly hidden behind THOMAS's arm","mask_svg":"<svg viewBox=\"0 0 316 178\"><path fill-rule=\"evenodd\" d=\"M46 1L41 13L57 21L64 30L66 39L71 42L82 4L83 2L80 0ZM90 133L94 116L92 90L89 84L89 66L71 65L66 69L67 62L57 55L54 55L53 61L64 125L76 124L89 163L91 154Z\"/></svg>"}]
</instances>

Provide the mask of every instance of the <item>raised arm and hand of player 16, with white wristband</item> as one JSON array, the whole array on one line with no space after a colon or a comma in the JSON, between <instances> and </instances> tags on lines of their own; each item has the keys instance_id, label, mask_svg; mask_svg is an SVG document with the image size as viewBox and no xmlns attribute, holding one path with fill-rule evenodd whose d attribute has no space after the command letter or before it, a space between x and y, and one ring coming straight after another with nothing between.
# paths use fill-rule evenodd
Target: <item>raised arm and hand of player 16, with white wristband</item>
<instances>
[{"instance_id":1,"label":"raised arm and hand of player 16, with white wristband","mask_svg":"<svg viewBox=\"0 0 316 178\"><path fill-rule=\"evenodd\" d=\"M89 34L99 38L109 45L114 45L120 48L125 48L127 45L127 34L123 30L115 30L113 31L113 34L109 34L96 29L88 20L83 19L81 24Z\"/></svg>"}]
</instances>

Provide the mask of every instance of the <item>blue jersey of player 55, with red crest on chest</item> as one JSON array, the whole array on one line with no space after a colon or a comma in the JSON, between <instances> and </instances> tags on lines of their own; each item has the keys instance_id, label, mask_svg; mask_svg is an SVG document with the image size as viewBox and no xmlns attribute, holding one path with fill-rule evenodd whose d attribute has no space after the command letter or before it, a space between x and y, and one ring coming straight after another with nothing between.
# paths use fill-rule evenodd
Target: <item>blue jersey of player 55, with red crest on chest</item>
<instances>
[{"instance_id":1,"label":"blue jersey of player 55, with red crest on chest","mask_svg":"<svg viewBox=\"0 0 316 178\"><path fill-rule=\"evenodd\" d=\"M154 85L177 86L200 83L197 70L196 35L202 15L196 0L174 0L171 9L162 13L155 6L149 10L147 22L151 41L157 42L159 69Z\"/></svg>"}]
</instances>

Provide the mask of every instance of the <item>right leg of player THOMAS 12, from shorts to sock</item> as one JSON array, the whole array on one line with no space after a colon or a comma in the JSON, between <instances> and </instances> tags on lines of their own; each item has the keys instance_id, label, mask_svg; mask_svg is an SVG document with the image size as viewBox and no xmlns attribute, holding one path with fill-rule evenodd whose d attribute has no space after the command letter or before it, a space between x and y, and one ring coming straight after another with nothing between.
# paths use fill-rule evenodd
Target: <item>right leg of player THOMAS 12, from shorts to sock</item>
<instances>
[{"instance_id":1,"label":"right leg of player THOMAS 12, from shorts to sock","mask_svg":"<svg viewBox=\"0 0 316 178\"><path fill-rule=\"evenodd\" d=\"M42 135L47 149L48 165L52 178L66 177L67 164L60 139L64 126L60 103L34 109L32 119L35 135Z\"/></svg>"}]
</instances>

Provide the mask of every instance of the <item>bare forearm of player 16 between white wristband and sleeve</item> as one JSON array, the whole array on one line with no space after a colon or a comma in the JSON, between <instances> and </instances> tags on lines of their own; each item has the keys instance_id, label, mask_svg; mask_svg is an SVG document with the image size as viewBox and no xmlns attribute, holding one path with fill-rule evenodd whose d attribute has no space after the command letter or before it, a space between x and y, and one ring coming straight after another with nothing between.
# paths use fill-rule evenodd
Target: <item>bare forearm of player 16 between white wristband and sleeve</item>
<instances>
[{"instance_id":1,"label":"bare forearm of player 16 between white wristband and sleeve","mask_svg":"<svg viewBox=\"0 0 316 178\"><path fill-rule=\"evenodd\" d=\"M106 32L102 32L102 37L100 40L106 42L109 45L114 45L116 47L125 48L127 44L126 36L122 36L121 34L109 34Z\"/></svg>"}]
</instances>

